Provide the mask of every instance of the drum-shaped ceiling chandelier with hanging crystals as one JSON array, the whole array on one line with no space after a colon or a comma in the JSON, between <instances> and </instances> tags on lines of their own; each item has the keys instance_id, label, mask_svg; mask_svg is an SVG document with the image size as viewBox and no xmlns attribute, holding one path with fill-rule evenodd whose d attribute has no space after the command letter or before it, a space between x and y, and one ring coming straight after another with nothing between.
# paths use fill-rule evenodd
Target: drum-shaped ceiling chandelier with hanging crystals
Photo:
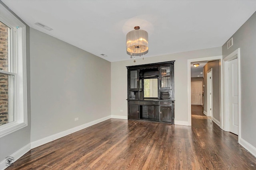
<instances>
[{"instance_id":1,"label":"drum-shaped ceiling chandelier with hanging crystals","mask_svg":"<svg viewBox=\"0 0 256 170\"><path fill-rule=\"evenodd\" d=\"M148 32L140 29L139 26L134 27L135 30L132 30L126 35L126 51L129 55L141 56L148 53Z\"/></svg>"}]
</instances>

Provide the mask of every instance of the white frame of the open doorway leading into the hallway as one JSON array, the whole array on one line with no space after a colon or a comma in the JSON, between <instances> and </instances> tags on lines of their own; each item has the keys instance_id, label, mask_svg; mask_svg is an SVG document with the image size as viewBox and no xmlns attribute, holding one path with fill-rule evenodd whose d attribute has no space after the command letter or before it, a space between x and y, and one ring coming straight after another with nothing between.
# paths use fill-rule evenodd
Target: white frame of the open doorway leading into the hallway
<instances>
[{"instance_id":1,"label":"white frame of the open doorway leading into the hallway","mask_svg":"<svg viewBox=\"0 0 256 170\"><path fill-rule=\"evenodd\" d=\"M198 59L188 59L188 126L191 126L191 63L197 61L220 61L220 125L223 120L223 66L222 66L222 55L214 57L204 57ZM221 127L222 128L222 127Z\"/></svg>"}]
</instances>

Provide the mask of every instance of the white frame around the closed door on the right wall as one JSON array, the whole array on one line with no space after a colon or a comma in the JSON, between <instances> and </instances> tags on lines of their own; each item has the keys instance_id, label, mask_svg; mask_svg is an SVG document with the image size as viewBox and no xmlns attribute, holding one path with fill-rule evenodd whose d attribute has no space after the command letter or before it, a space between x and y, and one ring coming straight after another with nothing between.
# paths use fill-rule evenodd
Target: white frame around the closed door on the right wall
<instances>
[{"instance_id":1,"label":"white frame around the closed door on the right wall","mask_svg":"<svg viewBox=\"0 0 256 170\"><path fill-rule=\"evenodd\" d=\"M240 143L241 134L241 75L240 75L240 48L233 51L230 55L223 59L223 71L224 71L224 115L222 122L222 129L224 131L229 130L229 99L228 99L228 62L237 58L237 74L238 74L238 143Z\"/></svg>"}]
</instances>

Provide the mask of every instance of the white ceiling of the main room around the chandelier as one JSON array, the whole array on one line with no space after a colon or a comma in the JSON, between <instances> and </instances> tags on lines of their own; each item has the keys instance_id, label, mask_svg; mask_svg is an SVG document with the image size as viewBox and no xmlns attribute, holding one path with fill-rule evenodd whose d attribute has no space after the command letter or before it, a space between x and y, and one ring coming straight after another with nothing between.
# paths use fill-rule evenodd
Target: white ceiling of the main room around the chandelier
<instances>
[{"instance_id":1,"label":"white ceiling of the main room around the chandelier","mask_svg":"<svg viewBox=\"0 0 256 170\"><path fill-rule=\"evenodd\" d=\"M110 62L130 59L126 33L136 25L148 31L152 57L220 47L256 11L255 0L2 1L30 27Z\"/></svg>"}]
</instances>

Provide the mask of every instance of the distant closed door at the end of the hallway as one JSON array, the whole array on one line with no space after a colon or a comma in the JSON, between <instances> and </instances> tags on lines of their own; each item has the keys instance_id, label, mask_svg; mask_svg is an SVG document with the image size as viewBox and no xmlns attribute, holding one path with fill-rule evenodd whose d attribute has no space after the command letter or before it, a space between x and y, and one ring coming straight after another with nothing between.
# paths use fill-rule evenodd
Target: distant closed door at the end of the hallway
<instances>
[{"instance_id":1,"label":"distant closed door at the end of the hallway","mask_svg":"<svg viewBox=\"0 0 256 170\"><path fill-rule=\"evenodd\" d=\"M202 104L202 82L191 82L191 104Z\"/></svg>"}]
</instances>

